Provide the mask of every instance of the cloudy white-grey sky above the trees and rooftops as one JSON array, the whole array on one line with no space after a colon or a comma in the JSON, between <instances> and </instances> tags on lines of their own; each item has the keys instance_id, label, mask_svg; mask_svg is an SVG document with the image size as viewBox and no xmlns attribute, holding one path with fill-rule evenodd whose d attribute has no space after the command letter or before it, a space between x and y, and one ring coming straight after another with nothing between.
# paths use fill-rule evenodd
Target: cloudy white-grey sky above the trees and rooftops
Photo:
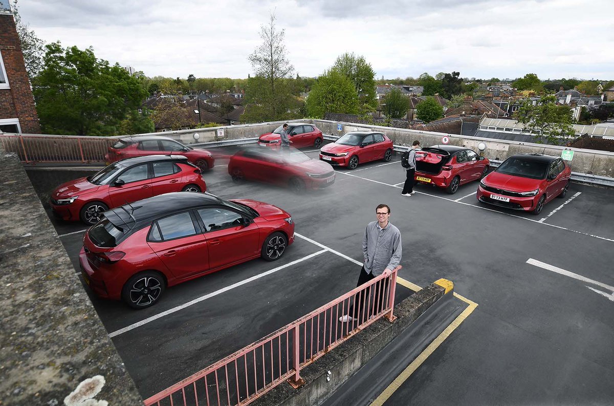
<instances>
[{"instance_id":1,"label":"cloudy white-grey sky above the trees and rooftops","mask_svg":"<svg viewBox=\"0 0 614 406\"><path fill-rule=\"evenodd\" d=\"M246 78L274 12L301 76L355 52L378 79L614 79L613 0L19 0L18 9L45 42L91 46L150 77Z\"/></svg>"}]
</instances>

